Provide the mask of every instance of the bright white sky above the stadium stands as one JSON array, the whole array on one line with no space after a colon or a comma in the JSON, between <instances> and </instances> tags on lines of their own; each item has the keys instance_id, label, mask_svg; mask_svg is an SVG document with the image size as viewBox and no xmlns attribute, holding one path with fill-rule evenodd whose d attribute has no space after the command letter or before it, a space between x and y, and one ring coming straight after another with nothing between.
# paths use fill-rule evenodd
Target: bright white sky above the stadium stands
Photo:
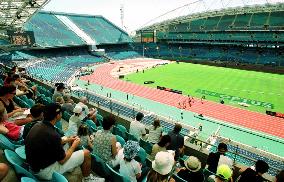
<instances>
[{"instance_id":1,"label":"bright white sky above the stadium stands","mask_svg":"<svg viewBox=\"0 0 284 182\"><path fill-rule=\"evenodd\" d=\"M131 33L145 25L182 15L267 2L277 3L284 0L50 0L43 10L102 15ZM123 26L121 7L124 12ZM163 14L165 15L161 16Z\"/></svg>"}]
</instances>

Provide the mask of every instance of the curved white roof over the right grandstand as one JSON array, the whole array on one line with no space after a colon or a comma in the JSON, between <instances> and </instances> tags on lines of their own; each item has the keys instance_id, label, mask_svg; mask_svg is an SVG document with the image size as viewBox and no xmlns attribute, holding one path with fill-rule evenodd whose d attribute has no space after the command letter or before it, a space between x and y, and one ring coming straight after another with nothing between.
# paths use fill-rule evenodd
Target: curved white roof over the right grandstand
<instances>
[{"instance_id":1,"label":"curved white roof over the right grandstand","mask_svg":"<svg viewBox=\"0 0 284 182\"><path fill-rule=\"evenodd\" d=\"M220 6L221 5L221 6ZM191 19L191 17L206 15L212 16L212 13L229 13L247 11L267 11L283 9L284 0L192 0L188 4L177 7L156 18L151 19L139 28L139 30L155 29L160 26Z\"/></svg>"}]
</instances>

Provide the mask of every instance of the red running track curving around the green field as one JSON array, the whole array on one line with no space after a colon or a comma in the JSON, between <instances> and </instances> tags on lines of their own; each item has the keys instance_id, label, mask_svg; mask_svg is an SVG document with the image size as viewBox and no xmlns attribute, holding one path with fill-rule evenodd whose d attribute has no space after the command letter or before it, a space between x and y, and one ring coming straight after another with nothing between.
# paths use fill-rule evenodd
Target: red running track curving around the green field
<instances>
[{"instance_id":1,"label":"red running track curving around the green field","mask_svg":"<svg viewBox=\"0 0 284 182\"><path fill-rule=\"evenodd\" d=\"M153 62L159 60L127 60L123 63L127 64L138 61ZM114 64L103 64L102 66L98 67L92 75L84 76L81 79L85 81L89 80L90 83L96 83L107 88L119 90L121 92L133 94L174 107L179 107L178 102L187 98L186 96L180 94L145 87L112 77L110 74L111 70L116 68L119 63L122 62L119 61L114 62ZM195 99L192 107L187 107L186 110L195 113L202 113L204 116L209 116L227 123L284 138L284 119L281 118L252 112L233 106L222 105L207 100L205 100L202 104L200 99Z\"/></svg>"}]
</instances>

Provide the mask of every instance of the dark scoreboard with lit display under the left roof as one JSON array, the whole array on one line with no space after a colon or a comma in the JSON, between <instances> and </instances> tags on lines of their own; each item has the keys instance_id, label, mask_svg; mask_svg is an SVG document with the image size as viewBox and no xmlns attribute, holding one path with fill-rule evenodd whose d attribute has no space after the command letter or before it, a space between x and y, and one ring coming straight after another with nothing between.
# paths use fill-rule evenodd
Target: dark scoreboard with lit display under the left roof
<instances>
[{"instance_id":1,"label":"dark scoreboard with lit display under the left roof","mask_svg":"<svg viewBox=\"0 0 284 182\"><path fill-rule=\"evenodd\" d=\"M32 31L7 31L10 43L16 46L32 46L35 43Z\"/></svg>"}]
</instances>

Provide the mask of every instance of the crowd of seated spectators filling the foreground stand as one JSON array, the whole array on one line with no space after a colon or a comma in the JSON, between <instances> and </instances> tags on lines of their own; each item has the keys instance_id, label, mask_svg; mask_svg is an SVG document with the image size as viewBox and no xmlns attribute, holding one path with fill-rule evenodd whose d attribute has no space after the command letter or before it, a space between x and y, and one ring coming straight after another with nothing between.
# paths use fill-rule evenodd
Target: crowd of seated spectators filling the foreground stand
<instances>
[{"instance_id":1,"label":"crowd of seated spectators filling the foreground stand","mask_svg":"<svg viewBox=\"0 0 284 182\"><path fill-rule=\"evenodd\" d=\"M81 168L83 181L103 180L91 172L92 153L125 179L134 182L143 179L172 182L176 177L194 182L233 181L235 168L233 160L226 155L225 143L218 145L217 152L209 154L204 165L196 156L183 158L185 138L180 134L182 125L177 123L172 131L165 132L160 121L155 119L152 125L145 126L141 122L144 118L141 112L130 123L129 135L134 137L133 140L119 143L114 134L114 116L102 117L96 108L89 107L86 97L75 103L62 83L55 85L52 102L44 105L37 99L37 86L28 86L28 81L18 74L17 69L5 77L0 88L0 133L12 141L24 141L26 163L41 180L51 180L54 172L65 174L77 167ZM18 89L22 91L19 95ZM23 93L35 103L30 109L21 108L13 101L15 96L20 97ZM62 128L57 124L64 112L71 117L62 134L59 132ZM95 127L91 127L90 122ZM150 165L143 163L139 156L143 151L140 140L152 145L147 156ZM243 169L236 181L265 181L263 174L268 169L268 164L259 160L255 166ZM6 164L0 163L0 180L8 170ZM275 181L283 181L283 171Z\"/></svg>"}]
</instances>

